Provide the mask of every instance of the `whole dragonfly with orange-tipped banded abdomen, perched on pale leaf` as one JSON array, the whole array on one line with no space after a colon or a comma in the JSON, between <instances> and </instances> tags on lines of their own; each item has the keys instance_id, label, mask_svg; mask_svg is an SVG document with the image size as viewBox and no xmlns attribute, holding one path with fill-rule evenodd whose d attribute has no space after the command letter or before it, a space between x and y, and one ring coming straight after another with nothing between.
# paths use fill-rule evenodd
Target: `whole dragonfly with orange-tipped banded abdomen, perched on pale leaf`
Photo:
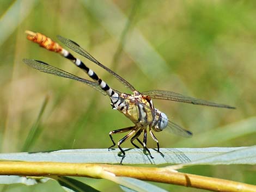
<instances>
[{"instance_id":1,"label":"whole dragonfly with orange-tipped banded abdomen, perched on pale leaf","mask_svg":"<svg viewBox=\"0 0 256 192\"><path fill-rule=\"evenodd\" d=\"M77 67L86 72L92 80L72 75L69 72L58 69L57 67L51 66L39 60L23 59L23 62L25 64L41 72L50 73L52 75L59 77L74 79L78 82L82 82L84 84L91 86L93 89L101 92L101 94L108 96L110 98L112 109L116 109L120 113L123 113L128 119L130 119L134 123L133 126L120 128L109 132L109 137L112 141L112 145L108 148L108 150L112 149L116 145L113 139L114 134L129 132L117 143L117 146L123 156L122 160L125 157L125 151L123 150L123 148L121 148L121 144L123 144L126 140L130 139L131 144L136 148L139 148L139 146L134 143L134 141L137 140L138 143L143 147L143 150L147 151L151 158L154 158L153 156L151 156L151 153L147 147L148 133L150 134L151 138L153 138L153 140L156 142L157 152L159 152L160 154L162 153L160 152L159 141L156 139L154 132L168 130L182 137L192 136L192 132L182 128L173 121L170 121L165 113L155 108L153 100L151 100L151 98L191 103L202 106L235 109L235 107L229 106L227 104L218 104L215 102L184 96L173 91L150 90L139 92L135 89L135 87L132 84L127 82L127 80L120 77L117 73L110 70L105 65L101 64L76 42L70 39L66 39L63 36L57 35L59 41L62 42L65 46L69 47L72 51L80 54L82 57L87 58L88 60L92 61L96 65L99 65L104 70L109 72L112 76L117 78L127 89L129 89L132 92L132 94L119 92L118 90L112 89L111 86L109 86L99 76L97 76L97 74L92 69L90 69L86 64L83 63L83 61L76 58L73 54L71 54L69 51L60 46L57 42L53 41L52 39L48 38L47 36L41 33L35 33L27 30L26 34L28 40L33 41L36 44L39 44L41 47L46 48L48 51L59 53L60 55L62 55L62 57L72 61L72 63L74 63ZM139 136L141 134L143 134L143 140L139 139Z\"/></svg>"}]
</instances>

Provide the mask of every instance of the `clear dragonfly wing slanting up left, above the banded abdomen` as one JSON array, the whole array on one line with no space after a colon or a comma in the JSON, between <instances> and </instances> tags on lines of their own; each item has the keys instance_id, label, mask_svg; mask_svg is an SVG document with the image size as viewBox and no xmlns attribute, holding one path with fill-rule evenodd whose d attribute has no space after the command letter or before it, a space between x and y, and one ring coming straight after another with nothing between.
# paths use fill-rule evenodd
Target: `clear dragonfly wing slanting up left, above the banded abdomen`
<instances>
[{"instance_id":1,"label":"clear dragonfly wing slanting up left, above the banded abdomen","mask_svg":"<svg viewBox=\"0 0 256 192\"><path fill-rule=\"evenodd\" d=\"M102 67L103 69L105 69L107 72L111 73L111 75L113 75L115 78L117 78L121 83L124 84L124 86L128 89L130 89L131 91L135 91L136 89L129 83L127 82L127 80L123 79L122 77L120 77L119 75L117 75L117 73L115 73L114 71L112 71L111 69L109 69L108 67L102 65L99 61L97 61L92 55L90 55L86 50L84 50L82 47L80 47L80 45L78 45L76 42L66 39L63 36L57 35L57 38L67 47L69 47L72 51L82 55L83 57L89 59L90 61L92 61L93 63L99 65L100 67Z\"/></svg>"}]
</instances>

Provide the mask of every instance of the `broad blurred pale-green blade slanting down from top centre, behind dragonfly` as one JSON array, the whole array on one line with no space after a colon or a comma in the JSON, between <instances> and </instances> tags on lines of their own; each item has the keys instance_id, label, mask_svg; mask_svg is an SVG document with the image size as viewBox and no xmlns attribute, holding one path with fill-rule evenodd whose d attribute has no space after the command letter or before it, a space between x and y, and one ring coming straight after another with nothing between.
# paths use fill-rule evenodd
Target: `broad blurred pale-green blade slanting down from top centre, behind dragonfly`
<instances>
[{"instance_id":1,"label":"broad blurred pale-green blade slanting down from top centre, behind dragonfly","mask_svg":"<svg viewBox=\"0 0 256 192\"><path fill-rule=\"evenodd\" d=\"M107 29L109 34L115 38L121 36L127 23L127 17L117 5L112 1L81 0L81 3ZM160 75L166 74L168 71L166 61L155 51L138 29L133 29L132 33L129 34L129 41L126 41L124 49L135 60L144 75L150 79L159 78Z\"/></svg>"}]
</instances>

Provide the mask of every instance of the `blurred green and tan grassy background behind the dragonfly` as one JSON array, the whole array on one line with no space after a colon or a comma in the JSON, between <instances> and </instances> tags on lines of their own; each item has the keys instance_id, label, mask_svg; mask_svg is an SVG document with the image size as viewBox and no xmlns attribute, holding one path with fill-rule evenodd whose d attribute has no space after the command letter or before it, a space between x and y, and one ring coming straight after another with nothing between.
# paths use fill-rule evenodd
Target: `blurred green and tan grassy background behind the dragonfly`
<instances>
[{"instance_id":1,"label":"blurred green and tan grassy background behind the dragonfly","mask_svg":"<svg viewBox=\"0 0 256 192\"><path fill-rule=\"evenodd\" d=\"M157 133L161 147L255 145L256 12L254 1L1 1L0 148L20 152L48 103L28 151L107 148L108 132L132 123L109 99L84 84L47 75L23 58L87 76L56 53L26 39L25 30L72 39L139 91L163 89L230 104L236 110L154 101L190 139ZM79 55L76 55L78 58ZM114 89L130 93L93 63ZM122 135L115 135L115 140ZM149 147L156 147L149 139ZM123 147L132 147L126 142ZM255 166L195 166L182 171L256 184ZM119 191L105 180L83 179L101 191ZM194 191L158 184L167 190ZM10 185L2 191L62 191L48 182ZM201 190L203 191L203 190Z\"/></svg>"}]
</instances>

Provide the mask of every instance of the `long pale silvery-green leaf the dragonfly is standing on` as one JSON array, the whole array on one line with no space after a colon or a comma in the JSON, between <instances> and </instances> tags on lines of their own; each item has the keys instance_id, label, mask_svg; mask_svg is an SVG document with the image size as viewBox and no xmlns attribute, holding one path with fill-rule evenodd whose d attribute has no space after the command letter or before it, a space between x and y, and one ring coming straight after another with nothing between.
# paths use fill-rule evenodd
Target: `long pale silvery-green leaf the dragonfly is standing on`
<instances>
[{"instance_id":1,"label":"long pale silvery-green leaf the dragonfly is standing on","mask_svg":"<svg viewBox=\"0 0 256 192\"><path fill-rule=\"evenodd\" d=\"M209 148L161 148L164 154L161 156L156 150L150 149L154 159L144 154L141 149L125 149L126 156L123 164L256 164L256 148L250 147L209 147ZM226 153L239 150L236 153ZM248 152L249 151L249 152ZM0 153L0 160L22 160L34 162L66 162L66 163L109 163L119 164L122 157L119 150L108 151L108 149L81 149L81 150L59 150L49 152L33 153ZM209 160L213 156L224 154L225 159ZM234 155L232 155L234 154ZM223 156L223 157L224 157ZM220 156L221 157L221 156ZM198 161L198 162L197 162Z\"/></svg>"}]
</instances>

